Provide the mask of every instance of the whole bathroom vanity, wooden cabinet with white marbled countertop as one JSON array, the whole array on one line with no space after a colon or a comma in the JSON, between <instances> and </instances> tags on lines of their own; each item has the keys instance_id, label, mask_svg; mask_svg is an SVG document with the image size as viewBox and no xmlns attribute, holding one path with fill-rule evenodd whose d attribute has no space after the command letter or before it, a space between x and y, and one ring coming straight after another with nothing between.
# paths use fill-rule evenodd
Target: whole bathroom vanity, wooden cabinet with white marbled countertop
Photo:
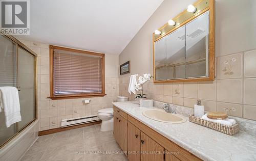
<instances>
[{"instance_id":1,"label":"whole bathroom vanity, wooden cabinet with white marbled countertop","mask_svg":"<svg viewBox=\"0 0 256 161\"><path fill-rule=\"evenodd\" d=\"M114 102L114 138L131 160L255 160L256 138L234 136L188 121L165 123L143 115L136 101ZM155 109L155 108L153 108Z\"/></svg>"}]
</instances>

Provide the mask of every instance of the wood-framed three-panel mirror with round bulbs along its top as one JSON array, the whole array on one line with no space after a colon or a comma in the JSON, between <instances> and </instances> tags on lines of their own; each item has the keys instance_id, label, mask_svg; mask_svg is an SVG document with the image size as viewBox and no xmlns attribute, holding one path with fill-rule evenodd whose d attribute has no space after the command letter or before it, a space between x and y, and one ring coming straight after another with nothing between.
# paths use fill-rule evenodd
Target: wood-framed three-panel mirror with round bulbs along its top
<instances>
[{"instance_id":1,"label":"wood-framed three-panel mirror with round bulbs along its top","mask_svg":"<svg viewBox=\"0 0 256 161\"><path fill-rule=\"evenodd\" d=\"M154 83L214 81L215 1L193 6L153 33Z\"/></svg>"}]
</instances>

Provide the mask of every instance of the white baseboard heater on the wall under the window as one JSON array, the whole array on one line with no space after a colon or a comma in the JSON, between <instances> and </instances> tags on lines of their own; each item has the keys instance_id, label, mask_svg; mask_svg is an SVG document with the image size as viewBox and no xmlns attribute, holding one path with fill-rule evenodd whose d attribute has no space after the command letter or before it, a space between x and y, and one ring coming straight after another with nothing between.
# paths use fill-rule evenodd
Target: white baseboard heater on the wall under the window
<instances>
[{"instance_id":1,"label":"white baseboard heater on the wall under the window","mask_svg":"<svg viewBox=\"0 0 256 161\"><path fill-rule=\"evenodd\" d=\"M74 126L74 125L79 125L79 124L84 124L84 123L90 123L90 122L95 122L99 121L100 119L98 118L97 115L90 115L86 117L76 117L76 118L71 118L71 119L63 119L61 120L61 127L68 127L68 126Z\"/></svg>"}]
</instances>

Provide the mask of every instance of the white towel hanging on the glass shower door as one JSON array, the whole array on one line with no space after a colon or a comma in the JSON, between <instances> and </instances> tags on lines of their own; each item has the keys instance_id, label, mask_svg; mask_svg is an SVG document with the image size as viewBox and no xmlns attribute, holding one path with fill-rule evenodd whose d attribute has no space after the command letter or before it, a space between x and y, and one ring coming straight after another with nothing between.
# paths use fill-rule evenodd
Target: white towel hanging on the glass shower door
<instances>
[{"instance_id":1,"label":"white towel hanging on the glass shower door","mask_svg":"<svg viewBox=\"0 0 256 161\"><path fill-rule=\"evenodd\" d=\"M0 87L1 91L1 111L5 112L5 124L10 127L13 123L22 121L20 116L20 105L18 90L15 87ZM0 112L1 112L0 111Z\"/></svg>"}]
</instances>

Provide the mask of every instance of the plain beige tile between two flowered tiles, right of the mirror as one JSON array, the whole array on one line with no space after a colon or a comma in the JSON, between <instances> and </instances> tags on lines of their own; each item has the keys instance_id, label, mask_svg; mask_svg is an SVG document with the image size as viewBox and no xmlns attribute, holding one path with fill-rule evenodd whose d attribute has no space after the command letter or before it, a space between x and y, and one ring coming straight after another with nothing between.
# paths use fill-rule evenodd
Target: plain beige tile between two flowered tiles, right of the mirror
<instances>
[{"instance_id":1,"label":"plain beige tile between two flowered tiles, right of the mirror","mask_svg":"<svg viewBox=\"0 0 256 161\"><path fill-rule=\"evenodd\" d=\"M218 80L217 91L217 101L243 103L243 79Z\"/></svg>"}]
</instances>

